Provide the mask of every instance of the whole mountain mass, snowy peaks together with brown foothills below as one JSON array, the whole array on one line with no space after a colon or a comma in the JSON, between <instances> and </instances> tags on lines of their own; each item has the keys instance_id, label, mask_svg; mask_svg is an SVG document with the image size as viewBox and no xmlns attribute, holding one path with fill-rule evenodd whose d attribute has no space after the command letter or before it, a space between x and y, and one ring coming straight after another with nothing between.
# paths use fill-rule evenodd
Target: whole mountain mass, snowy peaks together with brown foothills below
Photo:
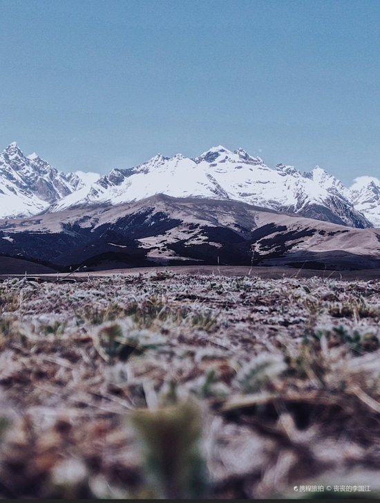
<instances>
[{"instance_id":1,"label":"whole mountain mass, snowy peaks together with brown foothills below","mask_svg":"<svg viewBox=\"0 0 380 503\"><path fill-rule=\"evenodd\" d=\"M380 268L380 181L271 169L243 149L158 154L107 176L0 154L6 273L155 265ZM13 264L13 265L12 265Z\"/></svg>"}]
</instances>

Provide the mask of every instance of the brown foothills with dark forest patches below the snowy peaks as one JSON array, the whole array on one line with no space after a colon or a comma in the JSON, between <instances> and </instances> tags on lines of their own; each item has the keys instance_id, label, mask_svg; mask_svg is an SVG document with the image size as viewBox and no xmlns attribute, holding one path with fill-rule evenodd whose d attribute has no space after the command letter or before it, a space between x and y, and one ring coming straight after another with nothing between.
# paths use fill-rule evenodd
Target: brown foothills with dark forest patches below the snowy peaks
<instances>
[{"instance_id":1,"label":"brown foothills with dark forest patches below the snowy peaks","mask_svg":"<svg viewBox=\"0 0 380 503\"><path fill-rule=\"evenodd\" d=\"M153 196L0 221L0 253L69 269L175 264L380 266L380 230L231 200Z\"/></svg>"}]
</instances>

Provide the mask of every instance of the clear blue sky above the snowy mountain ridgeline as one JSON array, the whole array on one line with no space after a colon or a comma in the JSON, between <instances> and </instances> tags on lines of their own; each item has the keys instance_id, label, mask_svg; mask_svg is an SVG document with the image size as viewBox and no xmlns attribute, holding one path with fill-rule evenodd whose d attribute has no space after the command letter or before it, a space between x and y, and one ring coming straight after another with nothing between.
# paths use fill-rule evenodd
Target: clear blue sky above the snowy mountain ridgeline
<instances>
[{"instance_id":1,"label":"clear blue sky above the snowy mountain ridgeline","mask_svg":"<svg viewBox=\"0 0 380 503\"><path fill-rule=\"evenodd\" d=\"M0 150L59 170L222 144L380 176L379 0L0 0Z\"/></svg>"}]
</instances>

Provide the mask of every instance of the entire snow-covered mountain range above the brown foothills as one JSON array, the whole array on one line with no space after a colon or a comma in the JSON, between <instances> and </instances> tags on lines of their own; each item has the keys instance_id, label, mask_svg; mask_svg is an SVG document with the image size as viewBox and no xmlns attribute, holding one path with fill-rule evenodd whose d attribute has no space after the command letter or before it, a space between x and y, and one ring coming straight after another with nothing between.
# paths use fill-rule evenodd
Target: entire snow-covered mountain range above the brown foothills
<instances>
[{"instance_id":1,"label":"entire snow-covered mountain range above the brown foothills","mask_svg":"<svg viewBox=\"0 0 380 503\"><path fill-rule=\"evenodd\" d=\"M0 154L1 218L119 205L155 194L241 201L343 226L380 227L378 179L361 176L346 188L318 166L303 174L283 164L272 169L243 149L219 145L196 158L158 154L107 176L59 172L37 154L24 156L17 143Z\"/></svg>"}]
</instances>

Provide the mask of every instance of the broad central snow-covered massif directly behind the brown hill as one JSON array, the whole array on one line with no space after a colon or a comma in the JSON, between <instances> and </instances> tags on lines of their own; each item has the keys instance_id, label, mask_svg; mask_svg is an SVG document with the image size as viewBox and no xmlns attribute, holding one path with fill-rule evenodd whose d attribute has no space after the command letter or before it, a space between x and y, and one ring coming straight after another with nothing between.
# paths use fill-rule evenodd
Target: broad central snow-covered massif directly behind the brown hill
<instances>
[{"instance_id":1,"label":"broad central snow-covered massif directly behind the brown hill","mask_svg":"<svg viewBox=\"0 0 380 503\"><path fill-rule=\"evenodd\" d=\"M259 157L251 157L243 149L231 152L222 145L194 159L182 154L173 158L158 154L129 170L112 170L90 190L70 194L50 210L82 204L120 204L160 193L234 199L348 226L371 226L350 202L350 191L319 167L303 175L292 166L277 165L272 170Z\"/></svg>"}]
</instances>

